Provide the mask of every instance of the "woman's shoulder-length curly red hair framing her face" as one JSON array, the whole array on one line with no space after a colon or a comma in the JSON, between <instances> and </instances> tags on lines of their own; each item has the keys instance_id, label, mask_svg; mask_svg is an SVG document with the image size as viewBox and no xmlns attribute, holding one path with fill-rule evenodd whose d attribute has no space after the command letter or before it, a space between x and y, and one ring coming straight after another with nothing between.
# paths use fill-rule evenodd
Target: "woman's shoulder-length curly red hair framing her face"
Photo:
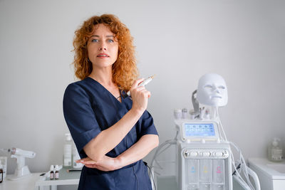
<instances>
[{"instance_id":1,"label":"woman's shoulder-length curly red hair framing her face","mask_svg":"<svg viewBox=\"0 0 285 190\"><path fill-rule=\"evenodd\" d=\"M110 31L115 34L115 38L118 39L118 58L112 65L113 82L121 90L128 91L134 80L138 78L135 46L133 46L133 37L130 36L130 30L113 14L92 16L75 31L73 65L76 78L83 80L92 72L92 63L88 59L87 42L91 33L93 33L94 26L98 23L108 26Z\"/></svg>"}]
</instances>

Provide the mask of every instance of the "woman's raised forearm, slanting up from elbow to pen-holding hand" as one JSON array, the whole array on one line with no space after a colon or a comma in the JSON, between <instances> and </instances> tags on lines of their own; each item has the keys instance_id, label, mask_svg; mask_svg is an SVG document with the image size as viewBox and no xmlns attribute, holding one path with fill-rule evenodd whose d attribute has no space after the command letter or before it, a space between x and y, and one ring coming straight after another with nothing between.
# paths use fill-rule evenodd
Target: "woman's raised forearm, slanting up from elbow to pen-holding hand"
<instances>
[{"instance_id":1,"label":"woman's raised forearm, slanting up from elbow to pen-holding hand","mask_svg":"<svg viewBox=\"0 0 285 190\"><path fill-rule=\"evenodd\" d=\"M125 135L130 132L132 127L140 119L141 111L131 109L115 125L107 130L100 132L97 137L93 138L83 148L87 156L94 161L100 161L104 155L117 146Z\"/></svg>"}]
</instances>

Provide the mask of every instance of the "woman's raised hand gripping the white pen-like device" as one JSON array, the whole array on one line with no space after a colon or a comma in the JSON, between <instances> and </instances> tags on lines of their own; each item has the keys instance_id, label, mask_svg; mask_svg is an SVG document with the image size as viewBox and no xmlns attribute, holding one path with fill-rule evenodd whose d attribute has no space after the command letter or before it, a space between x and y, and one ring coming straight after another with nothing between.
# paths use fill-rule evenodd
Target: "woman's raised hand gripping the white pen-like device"
<instances>
[{"instance_id":1,"label":"woman's raised hand gripping the white pen-like device","mask_svg":"<svg viewBox=\"0 0 285 190\"><path fill-rule=\"evenodd\" d=\"M130 88L130 96L133 100L132 109L141 114L147 109L147 102L150 97L150 91L147 91L144 86L138 86L143 80L143 78L136 80Z\"/></svg>"}]
</instances>

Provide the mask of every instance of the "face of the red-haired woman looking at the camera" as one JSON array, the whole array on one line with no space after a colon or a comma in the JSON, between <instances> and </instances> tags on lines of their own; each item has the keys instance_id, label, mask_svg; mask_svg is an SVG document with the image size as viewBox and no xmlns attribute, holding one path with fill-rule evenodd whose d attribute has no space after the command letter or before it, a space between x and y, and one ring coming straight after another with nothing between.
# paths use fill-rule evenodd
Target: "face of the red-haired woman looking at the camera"
<instances>
[{"instance_id":1,"label":"face of the red-haired woman looking at the camera","mask_svg":"<svg viewBox=\"0 0 285 190\"><path fill-rule=\"evenodd\" d=\"M88 39L88 58L93 63L93 68L112 66L118 58L118 41L115 34L108 26L99 23Z\"/></svg>"}]
</instances>

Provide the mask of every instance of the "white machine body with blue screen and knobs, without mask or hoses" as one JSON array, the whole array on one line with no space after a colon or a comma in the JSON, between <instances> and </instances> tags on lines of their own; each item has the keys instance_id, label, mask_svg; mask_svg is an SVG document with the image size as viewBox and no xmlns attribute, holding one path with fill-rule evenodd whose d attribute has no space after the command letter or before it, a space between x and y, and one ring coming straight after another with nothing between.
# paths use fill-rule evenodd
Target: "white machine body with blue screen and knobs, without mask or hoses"
<instances>
[{"instance_id":1,"label":"white machine body with blue screen and knobs, without mask or hoses","mask_svg":"<svg viewBox=\"0 0 285 190\"><path fill-rule=\"evenodd\" d=\"M175 120L180 138L178 184L181 190L232 190L229 144L221 142L213 120Z\"/></svg>"}]
</instances>

